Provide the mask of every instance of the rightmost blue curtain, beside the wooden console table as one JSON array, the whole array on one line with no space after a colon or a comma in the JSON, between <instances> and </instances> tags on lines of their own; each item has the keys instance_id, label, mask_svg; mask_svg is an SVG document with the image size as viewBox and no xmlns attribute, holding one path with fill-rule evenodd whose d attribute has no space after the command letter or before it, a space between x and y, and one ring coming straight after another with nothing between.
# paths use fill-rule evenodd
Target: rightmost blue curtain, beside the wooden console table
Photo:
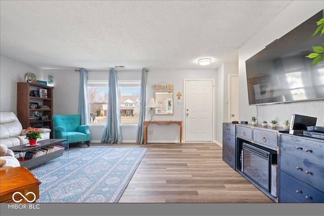
<instances>
[{"instance_id":1,"label":"rightmost blue curtain, beside the wooden console table","mask_svg":"<svg viewBox=\"0 0 324 216\"><path fill-rule=\"evenodd\" d=\"M138 117L137 125L137 144L143 144L144 141L144 120L145 120L145 104L146 104L146 78L147 73L145 69L142 69L142 79L141 79L141 93L140 93L140 113Z\"/></svg>"}]
</instances>

